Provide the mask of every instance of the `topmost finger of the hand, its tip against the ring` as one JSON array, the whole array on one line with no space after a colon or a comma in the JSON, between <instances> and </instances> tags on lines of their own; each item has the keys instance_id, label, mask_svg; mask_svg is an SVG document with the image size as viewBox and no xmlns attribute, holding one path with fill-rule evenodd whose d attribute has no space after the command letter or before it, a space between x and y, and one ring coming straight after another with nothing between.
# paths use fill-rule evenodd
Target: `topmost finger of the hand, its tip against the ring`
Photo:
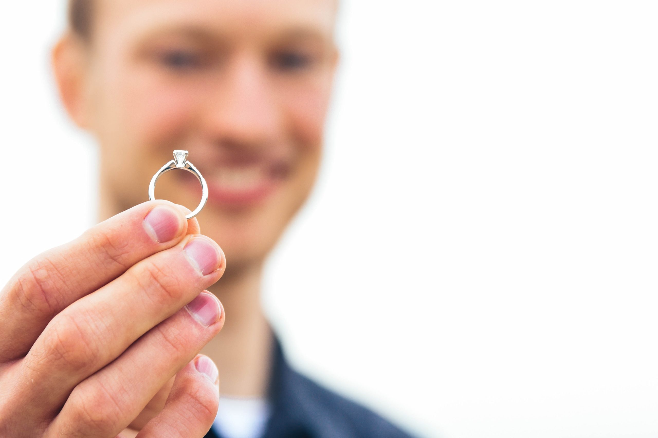
<instances>
[{"instance_id":1,"label":"topmost finger of the hand, its tip against the ring","mask_svg":"<svg viewBox=\"0 0 658 438\"><path fill-rule=\"evenodd\" d=\"M198 228L198 222L191 223ZM145 202L28 261L0 292L0 362L25 355L68 305L182 240L188 221L168 201Z\"/></svg>"}]
</instances>

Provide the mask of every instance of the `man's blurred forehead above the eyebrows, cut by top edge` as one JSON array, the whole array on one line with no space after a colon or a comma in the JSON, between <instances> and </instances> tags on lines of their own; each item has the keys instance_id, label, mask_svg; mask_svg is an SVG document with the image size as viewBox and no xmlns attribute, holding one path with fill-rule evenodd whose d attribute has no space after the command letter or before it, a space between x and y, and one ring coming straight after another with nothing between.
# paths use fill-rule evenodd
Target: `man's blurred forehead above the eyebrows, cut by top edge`
<instances>
[{"instance_id":1,"label":"man's blurred forehead above the eyebrows, cut by top edge","mask_svg":"<svg viewBox=\"0 0 658 438\"><path fill-rule=\"evenodd\" d=\"M203 26L232 37L310 31L331 35L338 0L101 0L97 28L114 33Z\"/></svg>"}]
</instances>

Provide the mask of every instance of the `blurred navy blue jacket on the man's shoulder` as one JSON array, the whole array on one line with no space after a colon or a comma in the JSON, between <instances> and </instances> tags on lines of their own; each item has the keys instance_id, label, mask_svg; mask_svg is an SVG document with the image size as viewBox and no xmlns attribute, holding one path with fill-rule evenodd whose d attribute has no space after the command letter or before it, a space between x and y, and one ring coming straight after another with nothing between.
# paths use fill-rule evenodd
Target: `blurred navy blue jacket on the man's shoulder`
<instances>
[{"instance_id":1,"label":"blurred navy blue jacket on the man's shoulder","mask_svg":"<svg viewBox=\"0 0 658 438\"><path fill-rule=\"evenodd\" d=\"M318 385L290 367L278 339L263 438L411 438L368 408ZM205 438L222 438L213 429Z\"/></svg>"}]
</instances>

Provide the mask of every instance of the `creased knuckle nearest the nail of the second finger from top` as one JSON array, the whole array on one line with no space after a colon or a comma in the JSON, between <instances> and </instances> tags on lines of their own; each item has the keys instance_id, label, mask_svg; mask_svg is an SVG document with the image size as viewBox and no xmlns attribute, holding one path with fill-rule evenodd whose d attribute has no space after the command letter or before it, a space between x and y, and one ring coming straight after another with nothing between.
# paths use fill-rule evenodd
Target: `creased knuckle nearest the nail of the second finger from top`
<instances>
[{"instance_id":1,"label":"creased knuckle nearest the nail of the second finger from top","mask_svg":"<svg viewBox=\"0 0 658 438\"><path fill-rule=\"evenodd\" d=\"M140 264L136 276L141 288L151 291L147 297L160 307L179 303L184 299L186 288L175 272L174 269L162 269L155 261L145 260Z\"/></svg>"}]
</instances>

